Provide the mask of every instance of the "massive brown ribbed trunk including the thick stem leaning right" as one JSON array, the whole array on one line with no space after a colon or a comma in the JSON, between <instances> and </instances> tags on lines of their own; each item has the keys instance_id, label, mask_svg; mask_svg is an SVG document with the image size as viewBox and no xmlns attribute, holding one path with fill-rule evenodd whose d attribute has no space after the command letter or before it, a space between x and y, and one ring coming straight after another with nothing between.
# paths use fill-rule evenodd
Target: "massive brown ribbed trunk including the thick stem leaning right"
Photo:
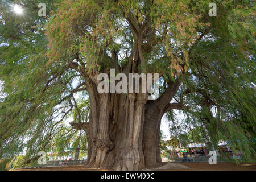
<instances>
[{"instance_id":1,"label":"massive brown ribbed trunk including the thick stem leaning right","mask_svg":"<svg viewBox=\"0 0 256 182\"><path fill-rule=\"evenodd\" d=\"M160 166L160 121L179 83L168 84L158 100L147 100L147 94L99 94L95 81L86 78L89 123L72 124L86 132L86 166L117 170Z\"/></svg>"}]
</instances>

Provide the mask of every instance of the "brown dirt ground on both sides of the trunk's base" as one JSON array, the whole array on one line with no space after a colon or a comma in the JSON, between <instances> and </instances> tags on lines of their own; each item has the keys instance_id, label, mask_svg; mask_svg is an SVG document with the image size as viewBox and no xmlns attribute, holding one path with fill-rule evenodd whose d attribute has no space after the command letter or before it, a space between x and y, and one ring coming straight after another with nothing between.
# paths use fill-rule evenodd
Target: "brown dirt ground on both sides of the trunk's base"
<instances>
[{"instance_id":1,"label":"brown dirt ground on both sides of the trunk's base","mask_svg":"<svg viewBox=\"0 0 256 182\"><path fill-rule=\"evenodd\" d=\"M256 163L217 163L209 165L208 163L163 163L167 168L156 168L155 170L164 171L256 171ZM183 167L181 167L184 165ZM169 167L169 168L168 168ZM41 168L24 168L16 171L95 171L97 169L86 168L83 165L76 166L58 166L58 167L41 167ZM150 169L154 170L154 169Z\"/></svg>"}]
</instances>

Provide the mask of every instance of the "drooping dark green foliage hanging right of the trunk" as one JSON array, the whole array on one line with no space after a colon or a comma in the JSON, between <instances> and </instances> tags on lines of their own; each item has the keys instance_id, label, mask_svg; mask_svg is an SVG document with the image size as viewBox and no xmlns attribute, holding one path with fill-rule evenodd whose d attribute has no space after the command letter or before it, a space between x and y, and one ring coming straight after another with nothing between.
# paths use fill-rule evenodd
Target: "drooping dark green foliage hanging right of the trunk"
<instances>
[{"instance_id":1,"label":"drooping dark green foliage hanging right of the trunk","mask_svg":"<svg viewBox=\"0 0 256 182\"><path fill-rule=\"evenodd\" d=\"M234 152L255 159L255 3L217 2L217 17L209 19L207 36L189 55L189 73L182 77L185 119L173 111L171 135L212 144L228 141ZM176 100L179 100L177 94ZM184 134L184 136L180 136ZM185 139L184 141L187 141Z\"/></svg>"}]
</instances>

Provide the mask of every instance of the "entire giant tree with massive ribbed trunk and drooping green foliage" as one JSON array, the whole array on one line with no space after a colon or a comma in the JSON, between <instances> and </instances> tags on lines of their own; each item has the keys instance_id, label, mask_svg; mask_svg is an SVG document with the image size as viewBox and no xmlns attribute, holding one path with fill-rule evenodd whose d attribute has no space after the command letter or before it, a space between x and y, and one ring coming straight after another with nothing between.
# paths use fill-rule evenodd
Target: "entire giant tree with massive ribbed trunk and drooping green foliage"
<instances>
[{"instance_id":1,"label":"entire giant tree with massive ribbed trunk and drooping green foliage","mask_svg":"<svg viewBox=\"0 0 256 182\"><path fill-rule=\"evenodd\" d=\"M71 126L86 133L88 167L158 166L161 119L177 109L195 126L203 125L213 143L230 139L253 156L248 146L255 136L254 2L215 2L216 17L208 14L210 1L57 1L46 20L47 48L34 46L26 35L23 40L4 35L10 40L3 39L7 45L1 49L18 52L0 57L6 94L0 105L1 147L14 151L27 137L28 151L46 148L75 109ZM22 42L34 52L19 52ZM149 93L110 88L99 93L98 76L110 75L110 69L127 77L159 73L159 97L148 100ZM113 78L109 82L120 86ZM81 119L85 113L76 93L89 97L88 119ZM245 142L237 144L238 139Z\"/></svg>"}]
</instances>

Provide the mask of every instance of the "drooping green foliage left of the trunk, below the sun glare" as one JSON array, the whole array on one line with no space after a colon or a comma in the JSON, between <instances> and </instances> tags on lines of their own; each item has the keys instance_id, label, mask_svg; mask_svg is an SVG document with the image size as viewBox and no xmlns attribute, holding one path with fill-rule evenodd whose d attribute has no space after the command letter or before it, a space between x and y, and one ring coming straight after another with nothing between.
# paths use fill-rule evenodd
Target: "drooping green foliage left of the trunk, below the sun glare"
<instances>
[{"instance_id":1,"label":"drooping green foliage left of the trunk, below the sun glare","mask_svg":"<svg viewBox=\"0 0 256 182\"><path fill-rule=\"evenodd\" d=\"M47 65L47 18L37 16L40 2L46 3L49 18L57 1L22 1L22 16L13 13L10 3L1 4L0 79L5 98L0 102L0 156L19 154L24 147L26 160L41 150L63 152L64 142L79 133L64 121L76 107L70 94L76 84L70 83L80 84L81 78L63 63Z\"/></svg>"}]
</instances>

